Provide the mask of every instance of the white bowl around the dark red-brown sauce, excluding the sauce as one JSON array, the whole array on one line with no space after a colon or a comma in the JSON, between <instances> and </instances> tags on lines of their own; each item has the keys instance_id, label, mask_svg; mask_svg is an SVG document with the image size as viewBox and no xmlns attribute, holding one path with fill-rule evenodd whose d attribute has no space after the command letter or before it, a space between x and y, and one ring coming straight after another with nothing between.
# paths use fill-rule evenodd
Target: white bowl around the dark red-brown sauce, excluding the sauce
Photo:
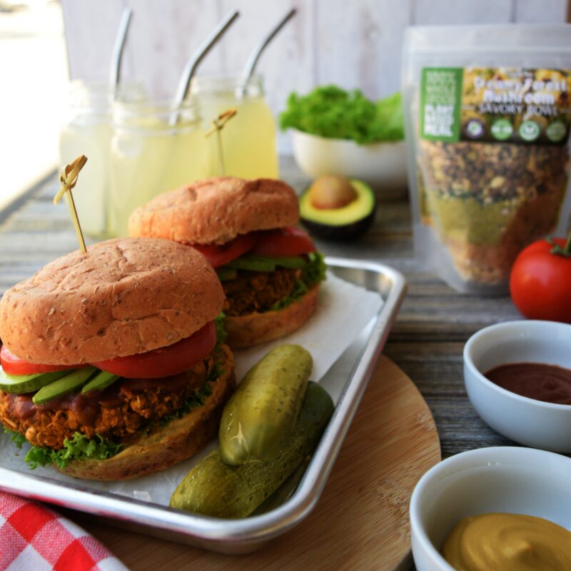
<instances>
[{"instance_id":1,"label":"white bowl around the dark red-brown sauce, excluding the sauce","mask_svg":"<svg viewBox=\"0 0 571 571\"><path fill-rule=\"evenodd\" d=\"M485 423L511 440L552 452L571 452L571 405L522 397L487 380L507 363L547 363L571 368L571 325L507 321L481 329L464 347L468 398Z\"/></svg>"}]
</instances>

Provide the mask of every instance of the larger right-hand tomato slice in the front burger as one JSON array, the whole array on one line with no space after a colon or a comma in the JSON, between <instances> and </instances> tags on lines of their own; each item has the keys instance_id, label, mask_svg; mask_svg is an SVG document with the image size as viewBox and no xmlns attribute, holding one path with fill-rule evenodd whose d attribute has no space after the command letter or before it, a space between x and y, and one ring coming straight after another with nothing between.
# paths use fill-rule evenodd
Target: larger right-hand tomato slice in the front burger
<instances>
[{"instance_id":1,"label":"larger right-hand tomato slice in the front burger","mask_svg":"<svg viewBox=\"0 0 571 571\"><path fill-rule=\"evenodd\" d=\"M206 358L216 345L216 325L213 321L178 343L147 353L116 357L98 363L94 367L128 379L156 379L178 375Z\"/></svg>"}]
</instances>

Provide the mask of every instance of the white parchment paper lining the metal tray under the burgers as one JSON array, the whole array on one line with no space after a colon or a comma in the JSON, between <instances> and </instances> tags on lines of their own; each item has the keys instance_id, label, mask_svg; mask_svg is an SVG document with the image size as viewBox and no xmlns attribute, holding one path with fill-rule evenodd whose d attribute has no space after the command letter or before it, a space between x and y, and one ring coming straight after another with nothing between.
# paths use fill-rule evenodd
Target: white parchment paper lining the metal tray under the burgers
<instances>
[{"instance_id":1,"label":"white parchment paper lining the metal tray under the burgers","mask_svg":"<svg viewBox=\"0 0 571 571\"><path fill-rule=\"evenodd\" d=\"M336 401L362 346L362 343L357 343L355 340L365 335L363 332L370 328L382 303L378 293L365 290L328 273L327 281L320 288L315 314L305 325L285 338L259 345L256 348L236 351L236 378L241 380L251 366L273 347L283 343L298 343L305 347L313 357L311 379L322 382L333 400ZM342 355L343 358L340 358ZM332 368L334 363L335 366ZM34 473L62 482L81 483L94 490L168 505L168 500L178 482L216 445L213 441L201 450L201 453L173 468L126 482L76 480L52 468L36 468ZM24 445L21 450L18 450L11 443L8 435L1 435L0 466L29 472L29 468L24 463L27 448Z\"/></svg>"}]
</instances>

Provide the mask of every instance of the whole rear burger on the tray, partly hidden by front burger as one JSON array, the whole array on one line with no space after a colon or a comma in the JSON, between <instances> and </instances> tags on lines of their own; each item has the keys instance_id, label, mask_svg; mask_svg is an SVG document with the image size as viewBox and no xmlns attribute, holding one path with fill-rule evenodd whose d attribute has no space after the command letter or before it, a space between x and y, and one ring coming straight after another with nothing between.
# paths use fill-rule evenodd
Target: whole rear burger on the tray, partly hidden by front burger
<instances>
[{"instance_id":1,"label":"whole rear burger on the tray, partly hidden by front burger","mask_svg":"<svg viewBox=\"0 0 571 571\"><path fill-rule=\"evenodd\" d=\"M315 311L323 256L299 221L293 188L271 178L208 178L163 193L133 212L131 236L168 238L216 269L231 348L279 338Z\"/></svg>"}]
</instances>

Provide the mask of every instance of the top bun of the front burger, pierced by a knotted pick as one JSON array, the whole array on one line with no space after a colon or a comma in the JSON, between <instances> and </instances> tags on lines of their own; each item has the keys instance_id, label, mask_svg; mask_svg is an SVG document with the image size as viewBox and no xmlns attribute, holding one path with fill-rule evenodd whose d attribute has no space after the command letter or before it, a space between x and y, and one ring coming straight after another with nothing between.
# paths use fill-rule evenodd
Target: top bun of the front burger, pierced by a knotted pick
<instances>
[{"instance_id":1,"label":"top bun of the front burger, pierced by a knotted pick","mask_svg":"<svg viewBox=\"0 0 571 571\"><path fill-rule=\"evenodd\" d=\"M0 338L31 363L96 363L188 337L216 318L223 299L193 248L118 238L61 256L6 291Z\"/></svg>"}]
</instances>

